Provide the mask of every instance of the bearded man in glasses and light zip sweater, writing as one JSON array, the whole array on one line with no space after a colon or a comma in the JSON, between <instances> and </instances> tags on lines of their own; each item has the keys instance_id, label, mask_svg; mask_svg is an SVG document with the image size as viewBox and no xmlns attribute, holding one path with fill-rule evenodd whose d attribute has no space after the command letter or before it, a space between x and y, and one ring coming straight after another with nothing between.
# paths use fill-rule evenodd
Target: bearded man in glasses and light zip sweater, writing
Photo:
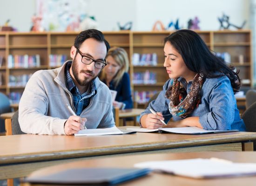
<instances>
[{"instance_id":1,"label":"bearded man in glasses and light zip sweater, writing","mask_svg":"<svg viewBox=\"0 0 256 186\"><path fill-rule=\"evenodd\" d=\"M115 126L111 93L97 77L107 65L109 47L100 31L83 31L71 47L73 60L34 73L20 99L21 130L73 135L84 128Z\"/></svg>"}]
</instances>

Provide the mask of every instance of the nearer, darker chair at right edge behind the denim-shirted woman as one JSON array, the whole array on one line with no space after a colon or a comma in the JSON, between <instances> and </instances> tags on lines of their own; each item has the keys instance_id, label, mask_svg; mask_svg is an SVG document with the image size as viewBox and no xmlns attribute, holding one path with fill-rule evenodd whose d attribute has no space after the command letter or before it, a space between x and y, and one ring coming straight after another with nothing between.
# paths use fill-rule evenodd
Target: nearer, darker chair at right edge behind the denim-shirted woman
<instances>
[{"instance_id":1,"label":"nearer, darker chair at right edge behind the denim-shirted woman","mask_svg":"<svg viewBox=\"0 0 256 186\"><path fill-rule=\"evenodd\" d=\"M242 119L246 127L246 132L256 132L256 102L246 109L242 115ZM256 150L256 140L253 140L253 148Z\"/></svg>"}]
</instances>

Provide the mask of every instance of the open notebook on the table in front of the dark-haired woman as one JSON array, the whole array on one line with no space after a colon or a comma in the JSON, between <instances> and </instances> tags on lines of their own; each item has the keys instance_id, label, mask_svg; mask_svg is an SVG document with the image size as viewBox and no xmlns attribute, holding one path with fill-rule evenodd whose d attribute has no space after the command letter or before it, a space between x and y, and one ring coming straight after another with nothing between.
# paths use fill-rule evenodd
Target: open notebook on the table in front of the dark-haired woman
<instances>
[{"instance_id":1,"label":"open notebook on the table in front of the dark-haired woman","mask_svg":"<svg viewBox=\"0 0 256 186\"><path fill-rule=\"evenodd\" d=\"M129 131L136 131L139 133L151 133L151 132L167 132L167 133L179 133L179 134L205 134L205 133L229 133L238 132L239 130L204 130L198 127L174 127L174 128L158 128L158 129L147 129L147 128L127 128Z\"/></svg>"}]
</instances>

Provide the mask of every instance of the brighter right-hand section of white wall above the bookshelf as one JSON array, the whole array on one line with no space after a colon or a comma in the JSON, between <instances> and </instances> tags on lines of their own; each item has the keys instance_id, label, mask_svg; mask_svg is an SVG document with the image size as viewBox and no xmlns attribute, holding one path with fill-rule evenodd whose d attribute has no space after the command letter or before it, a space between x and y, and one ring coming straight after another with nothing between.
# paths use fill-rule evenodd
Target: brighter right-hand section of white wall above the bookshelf
<instances>
[{"instance_id":1,"label":"brighter right-hand section of white wall above the bookshelf","mask_svg":"<svg viewBox=\"0 0 256 186\"><path fill-rule=\"evenodd\" d=\"M222 13L229 15L231 23L240 26L247 20L249 28L249 0L136 0L136 30L151 30L156 20L167 27L179 18L180 26L187 28L188 20L197 16L201 30L218 30ZM230 27L231 28L231 27Z\"/></svg>"}]
</instances>

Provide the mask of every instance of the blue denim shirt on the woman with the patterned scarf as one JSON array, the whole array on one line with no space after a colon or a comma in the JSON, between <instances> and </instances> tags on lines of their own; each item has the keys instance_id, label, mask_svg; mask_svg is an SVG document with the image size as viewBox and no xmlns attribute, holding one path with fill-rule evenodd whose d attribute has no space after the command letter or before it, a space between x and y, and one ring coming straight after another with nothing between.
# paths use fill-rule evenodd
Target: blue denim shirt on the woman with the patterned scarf
<instances>
[{"instance_id":1,"label":"blue denim shirt on the woman with the patterned scarf","mask_svg":"<svg viewBox=\"0 0 256 186\"><path fill-rule=\"evenodd\" d=\"M178 79L186 88L187 93L190 91L192 81L187 81L180 77ZM174 121L182 120L177 116L172 116L169 112L169 100L165 97L168 87L172 85L173 79L169 79L163 86L163 90L159 93L156 100L150 102L148 108L141 113L141 116L151 113L149 107L152 107L156 112L162 112L165 122L171 118ZM190 116L198 116L199 122L205 130L231 130L237 129L245 131L245 125L240 118L239 110L236 106L236 98L230 80L227 76L219 78L206 79L202 85L201 103L198 107L195 106Z\"/></svg>"}]
</instances>

